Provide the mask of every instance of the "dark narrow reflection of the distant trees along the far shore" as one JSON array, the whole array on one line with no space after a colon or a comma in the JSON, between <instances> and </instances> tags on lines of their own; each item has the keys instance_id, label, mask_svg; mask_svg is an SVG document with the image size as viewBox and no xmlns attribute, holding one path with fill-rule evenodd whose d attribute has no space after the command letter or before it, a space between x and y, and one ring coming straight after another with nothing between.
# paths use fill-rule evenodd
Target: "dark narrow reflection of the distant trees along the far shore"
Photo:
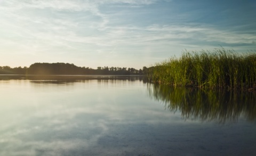
<instances>
[{"instance_id":1,"label":"dark narrow reflection of the distant trees along the far shore","mask_svg":"<svg viewBox=\"0 0 256 156\"><path fill-rule=\"evenodd\" d=\"M61 75L0 75L0 80L31 80L33 83L65 84L81 80L140 80L147 83L146 76L61 76Z\"/></svg>"}]
</instances>

